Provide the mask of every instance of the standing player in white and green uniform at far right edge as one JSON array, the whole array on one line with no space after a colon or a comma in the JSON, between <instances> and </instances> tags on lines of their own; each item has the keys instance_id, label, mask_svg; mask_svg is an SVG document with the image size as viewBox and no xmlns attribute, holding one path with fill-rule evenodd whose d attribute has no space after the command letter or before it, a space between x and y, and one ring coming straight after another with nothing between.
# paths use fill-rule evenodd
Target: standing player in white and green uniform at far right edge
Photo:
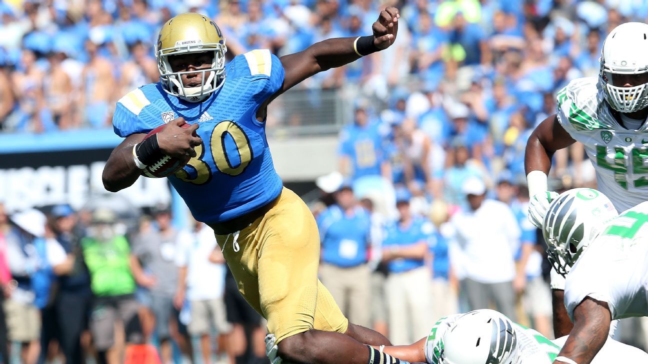
<instances>
[{"instance_id":1,"label":"standing player in white and green uniform at far right edge","mask_svg":"<svg viewBox=\"0 0 648 364\"><path fill-rule=\"evenodd\" d=\"M557 94L557 113L527 141L529 219L541 227L557 193L548 191L551 157L575 141L584 144L598 188L618 211L648 200L648 24L624 23L603 43L599 77L573 80ZM553 273L554 333L572 329L562 304L564 280Z\"/></svg>"}]
</instances>

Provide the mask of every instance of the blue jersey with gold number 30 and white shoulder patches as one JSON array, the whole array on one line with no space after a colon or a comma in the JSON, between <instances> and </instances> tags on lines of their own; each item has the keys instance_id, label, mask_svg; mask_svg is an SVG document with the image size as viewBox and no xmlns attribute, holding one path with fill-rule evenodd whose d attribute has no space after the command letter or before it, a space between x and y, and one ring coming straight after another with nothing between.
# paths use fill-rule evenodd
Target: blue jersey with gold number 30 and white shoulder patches
<instances>
[{"instance_id":1,"label":"blue jersey with gold number 30 and white shoulder patches","mask_svg":"<svg viewBox=\"0 0 648 364\"><path fill-rule=\"evenodd\" d=\"M169 179L196 220L224 222L281 193L266 125L256 115L283 80L279 58L267 49L251 51L227 64L224 84L203 102L168 95L159 83L131 91L117 102L113 128L127 137L148 133L177 117L200 124L197 132L203 144L195 148L197 156Z\"/></svg>"}]
</instances>

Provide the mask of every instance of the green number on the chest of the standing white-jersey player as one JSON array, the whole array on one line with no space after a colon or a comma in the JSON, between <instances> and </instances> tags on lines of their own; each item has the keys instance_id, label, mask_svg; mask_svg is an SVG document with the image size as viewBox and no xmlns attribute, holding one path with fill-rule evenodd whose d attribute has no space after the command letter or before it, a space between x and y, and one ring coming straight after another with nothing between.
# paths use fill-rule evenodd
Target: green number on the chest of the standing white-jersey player
<instances>
[{"instance_id":1,"label":"green number on the chest of the standing white-jersey player","mask_svg":"<svg viewBox=\"0 0 648 364\"><path fill-rule=\"evenodd\" d=\"M626 150L620 146L612 148L614 158L608 162L608 148L605 145L596 146L596 164L602 168L614 171L614 180L621 187L628 189L628 171L632 174L648 174L648 147L632 148L631 155L626 155ZM629 166L632 164L632 166ZM634 187L648 186L646 176L639 177L632 181Z\"/></svg>"}]
</instances>

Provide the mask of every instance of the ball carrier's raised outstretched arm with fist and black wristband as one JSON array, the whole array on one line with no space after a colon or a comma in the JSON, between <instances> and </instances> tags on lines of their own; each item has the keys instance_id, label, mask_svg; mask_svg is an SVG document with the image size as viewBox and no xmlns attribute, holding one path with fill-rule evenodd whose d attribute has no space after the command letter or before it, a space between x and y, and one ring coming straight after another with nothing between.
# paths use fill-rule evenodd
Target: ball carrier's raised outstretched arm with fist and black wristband
<instances>
[{"instance_id":1,"label":"ball carrier's raised outstretched arm with fist and black wristband","mask_svg":"<svg viewBox=\"0 0 648 364\"><path fill-rule=\"evenodd\" d=\"M371 36L360 38L331 38L323 40L307 49L281 57L285 70L283 86L273 97L286 92L308 77L340 67L373 52L387 49L396 41L399 29L400 12L393 6L388 6L378 15L373 23Z\"/></svg>"}]
</instances>

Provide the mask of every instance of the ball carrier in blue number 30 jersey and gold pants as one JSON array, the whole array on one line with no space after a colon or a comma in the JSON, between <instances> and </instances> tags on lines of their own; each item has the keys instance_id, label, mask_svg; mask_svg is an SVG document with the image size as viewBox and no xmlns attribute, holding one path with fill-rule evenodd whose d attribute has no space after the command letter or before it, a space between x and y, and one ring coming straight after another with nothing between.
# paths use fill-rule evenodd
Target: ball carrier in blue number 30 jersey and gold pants
<instances>
[{"instance_id":1,"label":"ball carrier in blue number 30 jersey and gold pants","mask_svg":"<svg viewBox=\"0 0 648 364\"><path fill-rule=\"evenodd\" d=\"M268 319L273 363L399 362L364 345L389 341L349 323L318 281L316 222L307 205L283 187L265 134L266 109L274 98L316 73L386 49L396 39L398 18L399 10L388 7L371 36L324 40L281 58L259 49L226 65L216 23L181 14L159 32L160 82L117 102L113 128L125 139L106 163L104 186L121 190L161 156L191 155L170 182L196 220L214 229L240 292ZM185 122L191 127L181 128ZM161 125L155 137L145 139Z\"/></svg>"}]
</instances>

